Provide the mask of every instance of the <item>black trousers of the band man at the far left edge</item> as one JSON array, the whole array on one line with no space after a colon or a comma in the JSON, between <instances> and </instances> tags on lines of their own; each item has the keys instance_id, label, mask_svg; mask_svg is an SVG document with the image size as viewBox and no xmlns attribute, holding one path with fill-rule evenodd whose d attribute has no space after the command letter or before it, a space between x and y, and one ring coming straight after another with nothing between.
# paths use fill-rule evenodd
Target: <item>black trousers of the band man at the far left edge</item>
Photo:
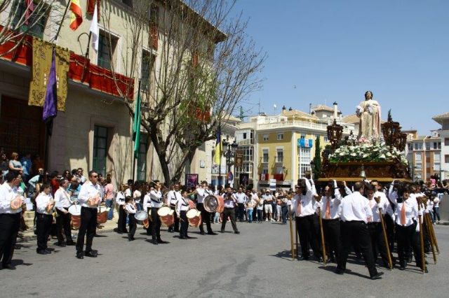
<instances>
[{"instance_id":1,"label":"black trousers of the band man at the far left edge","mask_svg":"<svg viewBox=\"0 0 449 298\"><path fill-rule=\"evenodd\" d=\"M19 233L21 213L0 214L0 260L1 264L11 264L14 246Z\"/></svg>"}]
</instances>

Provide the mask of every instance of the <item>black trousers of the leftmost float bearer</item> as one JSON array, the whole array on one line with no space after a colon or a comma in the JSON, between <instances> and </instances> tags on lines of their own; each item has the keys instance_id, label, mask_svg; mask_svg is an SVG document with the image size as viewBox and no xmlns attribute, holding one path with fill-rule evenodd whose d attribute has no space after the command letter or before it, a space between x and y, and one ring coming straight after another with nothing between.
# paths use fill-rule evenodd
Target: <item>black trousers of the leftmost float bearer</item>
<instances>
[{"instance_id":1,"label":"black trousers of the leftmost float bearer","mask_svg":"<svg viewBox=\"0 0 449 298\"><path fill-rule=\"evenodd\" d=\"M321 257L321 251L318 244L318 234L314 225L314 214L296 217L297 234L300 237L301 252L303 257L309 257L309 244L316 257Z\"/></svg>"}]
</instances>

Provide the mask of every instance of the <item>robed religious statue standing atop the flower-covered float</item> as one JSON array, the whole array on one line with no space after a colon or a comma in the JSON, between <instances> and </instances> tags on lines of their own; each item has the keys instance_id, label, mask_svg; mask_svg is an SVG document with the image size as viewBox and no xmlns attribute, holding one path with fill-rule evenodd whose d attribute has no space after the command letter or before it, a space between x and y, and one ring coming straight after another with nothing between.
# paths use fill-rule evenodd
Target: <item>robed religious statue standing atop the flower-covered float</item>
<instances>
[{"instance_id":1,"label":"robed religious statue standing atop the flower-covered float","mask_svg":"<svg viewBox=\"0 0 449 298\"><path fill-rule=\"evenodd\" d=\"M373 92L365 92L365 100L357 106L360 118L358 141L370 142L380 138L380 104L373 99Z\"/></svg>"}]
</instances>

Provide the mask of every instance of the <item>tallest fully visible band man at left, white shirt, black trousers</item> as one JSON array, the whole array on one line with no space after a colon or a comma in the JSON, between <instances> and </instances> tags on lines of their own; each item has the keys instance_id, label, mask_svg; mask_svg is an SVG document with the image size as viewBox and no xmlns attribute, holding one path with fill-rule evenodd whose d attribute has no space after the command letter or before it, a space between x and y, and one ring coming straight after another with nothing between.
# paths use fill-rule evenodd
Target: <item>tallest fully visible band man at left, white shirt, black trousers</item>
<instances>
[{"instance_id":1,"label":"tallest fully visible band man at left, white shirt, black trousers","mask_svg":"<svg viewBox=\"0 0 449 298\"><path fill-rule=\"evenodd\" d=\"M81 204L81 226L76 239L76 257L97 257L98 251L92 249L93 236L97 228L97 206L100 203L100 185L97 183L98 173L89 171L89 181L81 186L78 201ZM87 233L87 236L86 236ZM83 253L84 238L86 237L86 251Z\"/></svg>"}]
</instances>

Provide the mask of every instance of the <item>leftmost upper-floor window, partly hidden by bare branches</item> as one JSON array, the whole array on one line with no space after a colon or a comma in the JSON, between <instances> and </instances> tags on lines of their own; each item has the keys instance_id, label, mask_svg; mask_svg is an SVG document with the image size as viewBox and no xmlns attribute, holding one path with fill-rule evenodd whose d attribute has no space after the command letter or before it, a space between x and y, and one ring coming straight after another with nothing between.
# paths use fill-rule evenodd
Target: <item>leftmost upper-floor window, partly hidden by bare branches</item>
<instances>
[{"instance_id":1,"label":"leftmost upper-floor window, partly hidden by bare branches","mask_svg":"<svg viewBox=\"0 0 449 298\"><path fill-rule=\"evenodd\" d=\"M12 2L12 1L11 1ZM13 18L12 27L17 26L19 23L22 24L20 27L20 31L27 32L32 36L36 36L39 38L43 38L43 31L45 30L46 23L48 20L49 9L41 7L40 13L32 13L29 16L28 24L25 24L25 18L20 20L22 17L25 17L25 10L27 10L27 2L26 1L14 1L13 9L17 7L17 3L19 3L19 7L17 8L17 13ZM36 6L36 4L34 4ZM33 25L34 24L34 25ZM32 27L28 27L32 26Z\"/></svg>"}]
</instances>

